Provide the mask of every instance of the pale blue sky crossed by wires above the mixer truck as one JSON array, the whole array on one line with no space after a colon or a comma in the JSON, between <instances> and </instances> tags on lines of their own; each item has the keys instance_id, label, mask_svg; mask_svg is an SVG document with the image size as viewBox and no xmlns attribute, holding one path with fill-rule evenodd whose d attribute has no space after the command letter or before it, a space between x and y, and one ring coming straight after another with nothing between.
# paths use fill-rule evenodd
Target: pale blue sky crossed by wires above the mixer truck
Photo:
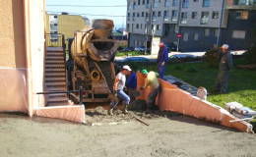
<instances>
[{"instance_id":1,"label":"pale blue sky crossed by wires above the mixer truck","mask_svg":"<svg viewBox=\"0 0 256 157\"><path fill-rule=\"evenodd\" d=\"M51 6L58 5L58 6ZM65 5L65 6L59 6ZM72 15L83 15L92 19L109 19L114 27L126 26L127 0L45 0L47 13L68 12ZM91 7L85 7L91 6ZM97 7L92 7L97 6ZM121 7L103 7L121 6ZM98 16L103 15L103 16Z\"/></svg>"}]
</instances>

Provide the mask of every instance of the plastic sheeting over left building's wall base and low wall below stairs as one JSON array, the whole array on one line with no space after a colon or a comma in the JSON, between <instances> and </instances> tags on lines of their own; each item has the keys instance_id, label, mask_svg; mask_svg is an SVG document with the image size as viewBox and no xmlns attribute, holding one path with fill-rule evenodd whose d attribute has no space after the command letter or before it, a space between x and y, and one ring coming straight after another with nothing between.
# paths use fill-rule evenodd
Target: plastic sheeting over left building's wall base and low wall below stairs
<instances>
[{"instance_id":1,"label":"plastic sheeting over left building's wall base and low wall below stairs","mask_svg":"<svg viewBox=\"0 0 256 157\"><path fill-rule=\"evenodd\" d=\"M39 101L40 96L33 94L33 104L28 101L28 80L26 76L31 75L31 69L25 68L1 68L0 69L0 112L23 112L28 115L36 115L48 118L57 118L72 122L85 123L85 106L44 106ZM32 82L31 82L32 83ZM36 105L35 105L36 104Z\"/></svg>"}]
</instances>

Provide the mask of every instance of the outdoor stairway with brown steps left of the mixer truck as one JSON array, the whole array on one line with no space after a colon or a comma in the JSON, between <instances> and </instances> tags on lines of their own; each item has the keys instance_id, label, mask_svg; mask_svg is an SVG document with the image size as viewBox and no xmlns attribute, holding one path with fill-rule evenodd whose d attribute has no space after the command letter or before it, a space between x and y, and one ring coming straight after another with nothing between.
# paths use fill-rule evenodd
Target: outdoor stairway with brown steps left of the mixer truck
<instances>
[{"instance_id":1,"label":"outdoor stairway with brown steps left of the mixer truck","mask_svg":"<svg viewBox=\"0 0 256 157\"><path fill-rule=\"evenodd\" d=\"M46 91L66 91L66 69L62 47L47 47L45 58L45 86ZM46 106L67 105L66 93L47 94Z\"/></svg>"}]
</instances>

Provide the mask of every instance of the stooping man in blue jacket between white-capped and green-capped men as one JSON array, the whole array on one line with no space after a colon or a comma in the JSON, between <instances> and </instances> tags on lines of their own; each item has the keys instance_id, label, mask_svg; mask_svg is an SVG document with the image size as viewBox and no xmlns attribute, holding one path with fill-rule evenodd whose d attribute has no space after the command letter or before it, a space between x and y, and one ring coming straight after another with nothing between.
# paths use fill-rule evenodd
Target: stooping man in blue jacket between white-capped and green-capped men
<instances>
[{"instance_id":1,"label":"stooping man in blue jacket between white-capped and green-capped men","mask_svg":"<svg viewBox=\"0 0 256 157\"><path fill-rule=\"evenodd\" d=\"M136 74L132 71L128 72L127 77L128 78L126 79L125 86L128 88L130 103L132 103L135 100L135 97L133 96L133 91L137 88L137 77Z\"/></svg>"}]
</instances>

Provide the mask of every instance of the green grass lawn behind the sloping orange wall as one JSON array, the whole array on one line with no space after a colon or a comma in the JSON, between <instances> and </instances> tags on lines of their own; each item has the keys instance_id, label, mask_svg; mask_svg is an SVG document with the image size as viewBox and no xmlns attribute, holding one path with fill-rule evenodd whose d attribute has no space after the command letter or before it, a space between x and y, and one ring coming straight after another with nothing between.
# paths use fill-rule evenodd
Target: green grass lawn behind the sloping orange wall
<instances>
[{"instance_id":1,"label":"green grass lawn behind the sloping orange wall","mask_svg":"<svg viewBox=\"0 0 256 157\"><path fill-rule=\"evenodd\" d=\"M243 106L256 110L256 73L250 70L240 70L236 65L243 64L243 59L234 60L234 69L229 73L227 93L212 94L218 69L209 69L205 63L167 64L164 76L180 78L193 86L204 86L210 93L207 100L224 107L224 103L237 101ZM136 70L147 69L158 71L157 64L136 65Z\"/></svg>"}]
</instances>

